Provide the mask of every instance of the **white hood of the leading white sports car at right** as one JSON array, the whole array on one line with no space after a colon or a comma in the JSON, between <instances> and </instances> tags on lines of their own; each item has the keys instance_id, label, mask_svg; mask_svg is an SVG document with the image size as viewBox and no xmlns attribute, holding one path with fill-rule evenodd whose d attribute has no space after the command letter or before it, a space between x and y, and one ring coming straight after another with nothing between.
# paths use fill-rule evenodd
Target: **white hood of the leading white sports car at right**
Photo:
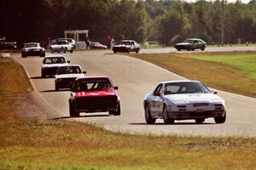
<instances>
[{"instance_id":1,"label":"white hood of the leading white sports car at right","mask_svg":"<svg viewBox=\"0 0 256 170\"><path fill-rule=\"evenodd\" d=\"M165 96L175 105L186 105L190 103L222 103L224 99L221 99L216 94L169 94Z\"/></svg>"}]
</instances>

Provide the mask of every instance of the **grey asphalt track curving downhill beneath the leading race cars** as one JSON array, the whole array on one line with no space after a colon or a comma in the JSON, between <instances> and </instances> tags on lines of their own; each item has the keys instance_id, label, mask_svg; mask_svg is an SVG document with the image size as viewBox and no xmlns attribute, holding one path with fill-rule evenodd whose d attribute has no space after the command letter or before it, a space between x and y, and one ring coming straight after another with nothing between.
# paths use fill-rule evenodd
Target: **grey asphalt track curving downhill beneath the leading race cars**
<instances>
[{"instance_id":1,"label":"grey asphalt track curving downhill beneath the leading race cars","mask_svg":"<svg viewBox=\"0 0 256 170\"><path fill-rule=\"evenodd\" d=\"M104 54L106 52L107 54ZM25 65L38 93L59 112L56 118L92 122L113 131L129 133L256 136L256 99L254 98L219 92L218 94L225 99L227 105L227 121L224 124L215 124L210 118L203 124L195 124L193 120L189 120L165 125L162 120L159 120L155 125L147 125L143 112L145 94L149 93L157 82L180 80L183 77L139 59L120 54L108 54L108 51L79 51L65 55L71 64L81 65L88 76L106 75L112 78L115 85L119 86L121 116L108 116L107 113L82 113L78 118L69 117L67 102L69 91L55 92L54 78L41 78L43 58L20 58L20 54L16 54L15 57Z\"/></svg>"}]
</instances>

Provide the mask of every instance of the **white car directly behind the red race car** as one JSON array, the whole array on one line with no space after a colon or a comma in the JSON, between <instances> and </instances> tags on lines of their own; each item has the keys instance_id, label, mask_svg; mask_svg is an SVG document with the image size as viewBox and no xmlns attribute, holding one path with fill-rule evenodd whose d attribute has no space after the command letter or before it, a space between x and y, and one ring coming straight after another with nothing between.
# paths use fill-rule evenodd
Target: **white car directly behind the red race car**
<instances>
[{"instance_id":1,"label":"white car directly behind the red race car","mask_svg":"<svg viewBox=\"0 0 256 170\"><path fill-rule=\"evenodd\" d=\"M84 77L86 71L82 71L80 65L59 66L55 74L55 90L71 88L77 77Z\"/></svg>"}]
</instances>

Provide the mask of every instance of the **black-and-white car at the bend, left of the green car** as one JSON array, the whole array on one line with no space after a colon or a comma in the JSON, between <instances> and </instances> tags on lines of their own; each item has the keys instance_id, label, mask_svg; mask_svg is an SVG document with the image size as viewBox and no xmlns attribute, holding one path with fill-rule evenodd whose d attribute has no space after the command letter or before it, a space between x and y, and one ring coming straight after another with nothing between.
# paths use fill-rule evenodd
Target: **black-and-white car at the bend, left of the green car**
<instances>
[{"instance_id":1,"label":"black-and-white car at the bend, left of the green car","mask_svg":"<svg viewBox=\"0 0 256 170\"><path fill-rule=\"evenodd\" d=\"M113 53L123 52L130 53L140 51L140 44L134 40L122 40L118 44L113 45Z\"/></svg>"}]
</instances>

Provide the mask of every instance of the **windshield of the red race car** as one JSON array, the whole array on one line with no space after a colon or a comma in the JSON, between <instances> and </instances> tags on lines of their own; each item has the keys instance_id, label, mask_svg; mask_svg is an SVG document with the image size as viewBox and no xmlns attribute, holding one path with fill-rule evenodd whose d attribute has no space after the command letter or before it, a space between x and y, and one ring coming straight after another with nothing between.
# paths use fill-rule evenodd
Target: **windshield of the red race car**
<instances>
[{"instance_id":1,"label":"windshield of the red race car","mask_svg":"<svg viewBox=\"0 0 256 170\"><path fill-rule=\"evenodd\" d=\"M76 91L100 91L109 88L113 88L108 79L86 79L81 80L74 87Z\"/></svg>"}]
</instances>

